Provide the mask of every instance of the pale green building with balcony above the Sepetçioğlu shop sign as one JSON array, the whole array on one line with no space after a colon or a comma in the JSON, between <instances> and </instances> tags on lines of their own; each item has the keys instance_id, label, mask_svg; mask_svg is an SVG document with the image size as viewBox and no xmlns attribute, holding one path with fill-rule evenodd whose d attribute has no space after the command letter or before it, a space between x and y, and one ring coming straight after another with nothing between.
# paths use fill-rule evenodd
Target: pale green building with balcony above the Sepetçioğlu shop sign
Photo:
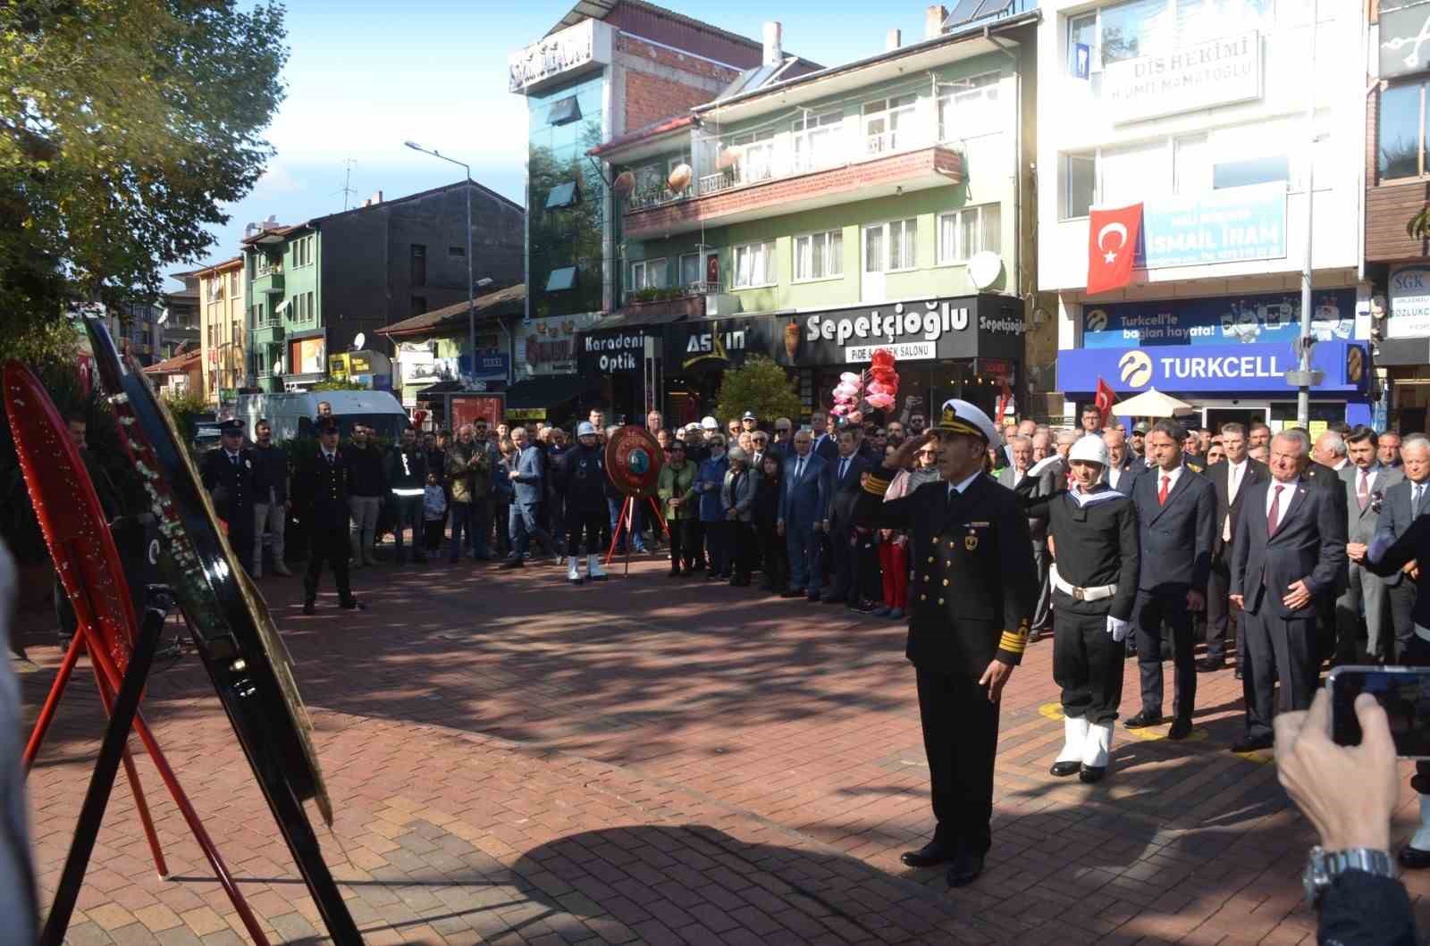
<instances>
[{"instance_id":1,"label":"pale green building with balcony above the Sepet\u00e7io\u011flu shop sign","mask_svg":"<svg viewBox=\"0 0 1430 946\"><path fill-rule=\"evenodd\" d=\"M661 336L644 383L674 419L698 419L721 372L756 350L811 407L878 344L895 346L902 392L925 409L965 396L991 412L1027 390L1037 11L957 34L934 23L847 66L751 70L593 149L621 194L609 332ZM705 339L741 349L708 357Z\"/></svg>"}]
</instances>

